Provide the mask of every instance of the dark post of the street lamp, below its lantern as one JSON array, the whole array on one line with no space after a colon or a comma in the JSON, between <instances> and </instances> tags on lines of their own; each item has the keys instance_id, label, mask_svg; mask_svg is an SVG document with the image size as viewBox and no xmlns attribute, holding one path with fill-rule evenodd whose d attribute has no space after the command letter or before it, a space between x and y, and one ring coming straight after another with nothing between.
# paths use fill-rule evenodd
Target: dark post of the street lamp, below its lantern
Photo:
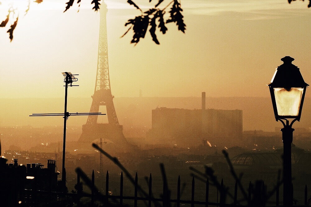
<instances>
[{"instance_id":1,"label":"dark post of the street lamp, below its lantern","mask_svg":"<svg viewBox=\"0 0 311 207\"><path fill-rule=\"evenodd\" d=\"M291 143L293 142L293 129L286 120L286 125L281 129L283 139L283 205L292 206L292 176L291 176Z\"/></svg>"}]
</instances>

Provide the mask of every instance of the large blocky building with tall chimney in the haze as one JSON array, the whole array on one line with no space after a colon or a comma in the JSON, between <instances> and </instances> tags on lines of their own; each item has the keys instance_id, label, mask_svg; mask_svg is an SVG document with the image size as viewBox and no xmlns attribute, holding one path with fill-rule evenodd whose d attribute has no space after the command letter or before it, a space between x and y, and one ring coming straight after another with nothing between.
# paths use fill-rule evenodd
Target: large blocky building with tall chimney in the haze
<instances>
[{"instance_id":1,"label":"large blocky building with tall chimney in the haze","mask_svg":"<svg viewBox=\"0 0 311 207\"><path fill-rule=\"evenodd\" d=\"M242 117L242 110L205 109L202 96L202 109L152 110L148 137L154 144L234 146L242 140Z\"/></svg>"}]
</instances>

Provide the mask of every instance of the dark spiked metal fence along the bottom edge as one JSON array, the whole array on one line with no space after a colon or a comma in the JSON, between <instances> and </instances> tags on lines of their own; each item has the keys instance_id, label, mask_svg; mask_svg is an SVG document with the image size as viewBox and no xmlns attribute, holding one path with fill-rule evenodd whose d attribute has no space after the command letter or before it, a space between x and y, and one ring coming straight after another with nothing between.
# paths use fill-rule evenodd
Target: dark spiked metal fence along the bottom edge
<instances>
[{"instance_id":1,"label":"dark spiked metal fence along the bottom edge","mask_svg":"<svg viewBox=\"0 0 311 207\"><path fill-rule=\"evenodd\" d=\"M84 192L81 192L79 189L77 191L77 193L60 193L60 192L49 192L49 191L31 191L31 190L26 190L28 191L28 193L33 194L39 194L39 195L56 195L59 197L64 197L64 196L68 196L68 197L72 197L74 199L76 199L77 205L79 206L81 200L83 197L88 197L90 198L91 205L94 205L96 202L100 201L100 203L104 204L104 206L127 206L128 204L126 203L131 203L133 204L132 206L137 207L139 206L137 204L137 201L143 201L144 202L144 206L148 206L151 207L152 204L154 206L171 206L171 204L174 204L174 206L180 207L181 204L190 204L191 207L194 207L195 205L204 205L204 206L267 206L268 202L266 200L266 186L265 184L262 182L261 183L261 187L258 188L258 186L256 186L255 188L253 188L252 183L249 183L249 187L248 187L248 200L244 200L245 203L248 203L248 205L241 205L241 200L237 200L237 194L238 194L238 184L235 183L234 186L234 196L233 196L233 202L230 204L226 204L225 203L225 197L226 197L226 191L225 191L225 187L224 187L224 182L223 180L221 181L220 184L220 189L217 189L217 191L220 193L220 200L218 202L214 203L214 202L210 202L209 201L209 189L210 189L210 183L209 180L206 180L205 183L205 200L204 201L199 201L199 200L195 200L195 178L192 177L192 186L191 186L191 200L182 200L181 199L181 195L180 195L180 176L178 177L177 180L177 196L176 199L172 199L169 196L169 189L167 184L165 184L165 182L163 182L163 194L161 196L161 198L155 198L153 196L153 192L152 192L152 176L150 174L149 176L149 183L148 183L148 193L143 194L145 196L138 196L138 189L140 188L138 186L138 177L137 177L137 173L135 175L135 182L134 182L134 196L124 196L123 195L123 172L121 172L120 175L120 193L119 195L110 195L109 193L109 173L107 171L106 174L106 188L104 191L104 195L95 187L95 176L94 176L94 170L92 173L92 179L91 180L85 180L85 178L83 178L84 182L86 183L87 186L90 187L91 189L91 194L87 194ZM258 184L258 183L256 183ZM80 173L77 173L77 186L80 185ZM202 189L201 189L202 190ZM217 193L218 193L217 192ZM295 205L295 206L306 206L308 204L308 188L307 185L305 186L304 189L304 205ZM31 196L30 196L31 197ZM38 197L38 196L32 196L32 197ZM80 200L81 199L81 200ZM275 204L276 205L269 205L269 206L281 206L279 205L279 185L276 188L276 197L275 197ZM130 202L124 202L124 200L129 200ZM272 204L272 203L270 203Z\"/></svg>"}]
</instances>

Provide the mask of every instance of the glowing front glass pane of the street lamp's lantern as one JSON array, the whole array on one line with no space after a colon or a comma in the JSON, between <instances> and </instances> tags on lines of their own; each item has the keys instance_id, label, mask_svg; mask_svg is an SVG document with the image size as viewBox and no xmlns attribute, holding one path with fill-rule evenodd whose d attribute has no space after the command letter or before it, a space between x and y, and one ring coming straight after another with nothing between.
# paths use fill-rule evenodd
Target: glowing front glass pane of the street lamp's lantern
<instances>
[{"instance_id":1,"label":"glowing front glass pane of the street lamp's lantern","mask_svg":"<svg viewBox=\"0 0 311 207\"><path fill-rule=\"evenodd\" d=\"M279 116L298 116L304 88L273 88Z\"/></svg>"}]
</instances>

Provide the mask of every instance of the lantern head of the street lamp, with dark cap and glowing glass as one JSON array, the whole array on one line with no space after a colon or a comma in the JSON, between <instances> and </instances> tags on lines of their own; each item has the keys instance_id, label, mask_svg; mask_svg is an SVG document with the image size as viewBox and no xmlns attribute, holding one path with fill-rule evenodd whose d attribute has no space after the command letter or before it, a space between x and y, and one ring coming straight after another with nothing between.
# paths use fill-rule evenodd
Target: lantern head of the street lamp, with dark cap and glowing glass
<instances>
[{"instance_id":1,"label":"lantern head of the street lamp, with dark cap and glowing glass","mask_svg":"<svg viewBox=\"0 0 311 207\"><path fill-rule=\"evenodd\" d=\"M291 62L295 59L285 56L284 63L276 68L270 89L272 106L276 120L294 118L300 120L306 88L299 68Z\"/></svg>"}]
</instances>

